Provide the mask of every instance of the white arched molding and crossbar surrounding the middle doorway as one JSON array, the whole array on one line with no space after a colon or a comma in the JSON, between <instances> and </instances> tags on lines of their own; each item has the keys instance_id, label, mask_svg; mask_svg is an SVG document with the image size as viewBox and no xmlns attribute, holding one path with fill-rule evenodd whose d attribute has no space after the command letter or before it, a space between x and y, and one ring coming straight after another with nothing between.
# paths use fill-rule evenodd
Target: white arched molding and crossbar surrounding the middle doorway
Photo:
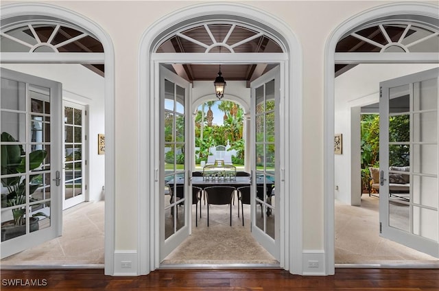
<instances>
[{"instance_id":1,"label":"white arched molding and crossbar surrounding the middle doorway","mask_svg":"<svg viewBox=\"0 0 439 291\"><path fill-rule=\"evenodd\" d=\"M236 8L239 6L239 14L236 13ZM212 11L222 11L220 13L213 13ZM265 34L270 35L273 39L276 39L278 44L283 47L284 51L292 51L290 56L287 54L270 54L270 58L265 58L264 54L258 54L258 56L251 53L239 54L239 59L234 57L234 54L220 54L210 53L210 54L156 54L156 49L159 45L167 38L173 36L176 32L182 29L182 27L191 27L191 25L202 25L206 22L206 19L211 21L222 21L224 23L231 23L232 25L240 25L246 27L257 27L257 31L261 31ZM191 24L193 23L193 24ZM271 23L271 25L268 25ZM166 27L166 28L165 28ZM276 27L273 30L272 27ZM179 35L180 36L180 35ZM185 38L185 37L183 37ZM215 45L214 47L217 47ZM300 134L300 108L301 108L301 97L300 97L300 66L290 66L293 60L297 60L300 56L300 47L294 35L289 31L289 29L279 23L277 19L272 16L263 14L262 12L256 11L253 8L248 8L245 5L196 5L191 7L191 9L176 12L167 19L163 19L153 25L150 30L145 33L141 44L141 80L147 80L147 82L141 82L140 84L140 100L139 107L145 112L150 112L149 116L156 116L158 110L156 109L156 102L149 97L150 92L158 92L158 66L161 63L172 63L172 64L198 64L198 63L208 63L213 65L234 65L234 64L259 64L259 63L273 63L278 64L281 71L281 83L289 84L288 86L282 86L285 91L281 94L283 95L283 102L285 102L285 107L283 109L287 110L289 108L289 116L293 116L294 126L286 130L286 128L281 128L282 135L280 137L280 148L281 152L284 154L283 157L286 161L295 161L298 165L297 169L289 167L288 165L281 165L279 171L282 173L279 178L284 186L281 186L279 190L279 198L283 200L283 207L285 210L281 211L281 216L278 218L283 222L283 231L281 237L278 237L281 243L280 250L280 264L282 268L290 270L290 272L301 273L301 224L294 223L290 224L289 221L301 221L301 211L298 205L301 205L301 177L298 174L300 171L300 152L301 152L301 134ZM300 62L299 62L300 63ZM292 83L288 76L293 73L297 73L296 78L292 78ZM294 75L294 74L293 74ZM148 115L141 115L139 119L139 124L148 124L152 119L147 119ZM155 119L157 120L157 119ZM159 132L157 121L153 122L156 128L156 132ZM155 213L154 216L146 216L141 213L140 223L139 223L139 235L141 242L150 242L150 244L141 243L139 248L139 261L141 261L141 274L147 274L151 270L158 268L160 264L160 241L158 240L158 233L160 229L159 225L159 214L157 213L156 205L158 205L158 200L160 200L160 185L158 184L158 171L160 170L159 161L157 159L158 154L154 154L158 150L157 143L150 143L150 137L152 133L148 134L148 131L141 132L139 148L147 149L143 151L146 154L141 154L141 169L139 174L140 185L139 189L143 189L139 193L139 205L140 207L146 207L151 209L151 213ZM290 135L296 135L297 144L294 145L297 150L292 152L285 152L284 143L288 140ZM157 139L156 139L157 140ZM147 154L150 153L150 154ZM155 165L154 169L148 168L147 165ZM284 176L285 175L285 178ZM146 178L145 178L146 177ZM288 178L286 178L288 177ZM149 179L149 180L148 180ZM294 189L296 191L294 194L290 194L290 190L285 191L285 189L290 188L289 185L292 183L298 183L297 187L294 184ZM145 196L146 192L151 193L150 196ZM283 190L284 189L284 190ZM276 188L277 190L277 188ZM277 193L277 191L276 191ZM288 209L288 210L286 210ZM294 209L294 210L292 210ZM294 217L292 217L294 216ZM145 223L143 223L145 222ZM295 233L295 235L287 235L287 233ZM294 237L294 241L289 240L289 237ZM276 238L277 240L277 238ZM292 255L294 253L294 255ZM300 255L299 255L300 254ZM294 259L293 259L294 258Z\"/></svg>"}]
</instances>

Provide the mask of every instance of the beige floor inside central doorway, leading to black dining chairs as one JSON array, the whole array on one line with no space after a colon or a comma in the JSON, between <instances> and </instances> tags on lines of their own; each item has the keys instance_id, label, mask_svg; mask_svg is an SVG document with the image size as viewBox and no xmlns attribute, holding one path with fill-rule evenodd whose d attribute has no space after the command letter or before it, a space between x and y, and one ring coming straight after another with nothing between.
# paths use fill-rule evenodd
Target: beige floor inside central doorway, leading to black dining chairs
<instances>
[{"instance_id":1,"label":"beige floor inside central doorway, leading to black dining chairs","mask_svg":"<svg viewBox=\"0 0 439 291\"><path fill-rule=\"evenodd\" d=\"M278 264L250 233L250 205L244 205L245 226L242 226L242 216L237 216L236 200L232 207L232 226L229 209L228 205L211 205L207 227L207 209L202 204L202 218L198 217L198 227L195 227L194 205L192 234L165 258L163 264ZM257 218L261 219L261 207L257 209ZM182 214L179 211L178 216ZM270 227L274 216L267 220Z\"/></svg>"}]
</instances>

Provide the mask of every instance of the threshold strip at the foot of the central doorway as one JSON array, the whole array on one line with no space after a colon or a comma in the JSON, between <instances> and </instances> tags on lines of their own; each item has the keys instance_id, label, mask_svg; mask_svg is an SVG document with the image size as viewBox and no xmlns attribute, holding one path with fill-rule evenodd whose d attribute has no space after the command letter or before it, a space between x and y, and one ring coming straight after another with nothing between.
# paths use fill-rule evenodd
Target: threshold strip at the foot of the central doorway
<instances>
[{"instance_id":1,"label":"threshold strip at the foot of the central doorway","mask_svg":"<svg viewBox=\"0 0 439 291\"><path fill-rule=\"evenodd\" d=\"M279 264L160 264L158 269L282 269Z\"/></svg>"}]
</instances>

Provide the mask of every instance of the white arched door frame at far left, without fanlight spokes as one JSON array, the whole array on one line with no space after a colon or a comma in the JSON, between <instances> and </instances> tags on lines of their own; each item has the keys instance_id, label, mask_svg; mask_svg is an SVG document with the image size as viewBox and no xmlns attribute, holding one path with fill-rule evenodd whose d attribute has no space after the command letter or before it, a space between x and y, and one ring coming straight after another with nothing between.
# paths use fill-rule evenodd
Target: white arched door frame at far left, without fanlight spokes
<instances>
[{"instance_id":1,"label":"white arched door frame at far left, without fanlight spokes","mask_svg":"<svg viewBox=\"0 0 439 291\"><path fill-rule=\"evenodd\" d=\"M91 32L104 47L104 53L2 53L4 63L81 63L104 64L105 95L105 275L115 273L115 54L110 36L86 17L47 3L14 3L1 5L1 21L32 19L62 19ZM21 18L21 19L19 19Z\"/></svg>"}]
</instances>

